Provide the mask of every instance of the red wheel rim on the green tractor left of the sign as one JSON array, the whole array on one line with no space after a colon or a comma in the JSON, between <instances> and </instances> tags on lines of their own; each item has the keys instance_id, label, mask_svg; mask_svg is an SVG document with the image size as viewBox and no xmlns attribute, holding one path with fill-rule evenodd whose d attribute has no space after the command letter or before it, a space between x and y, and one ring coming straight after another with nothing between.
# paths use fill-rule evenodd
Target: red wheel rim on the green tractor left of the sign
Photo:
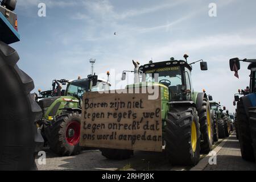
<instances>
[{"instance_id":1,"label":"red wheel rim on the green tractor left of the sign","mask_svg":"<svg viewBox=\"0 0 256 182\"><path fill-rule=\"evenodd\" d=\"M75 146L80 140L80 123L77 121L72 121L69 123L66 130L66 139L69 144Z\"/></svg>"}]
</instances>

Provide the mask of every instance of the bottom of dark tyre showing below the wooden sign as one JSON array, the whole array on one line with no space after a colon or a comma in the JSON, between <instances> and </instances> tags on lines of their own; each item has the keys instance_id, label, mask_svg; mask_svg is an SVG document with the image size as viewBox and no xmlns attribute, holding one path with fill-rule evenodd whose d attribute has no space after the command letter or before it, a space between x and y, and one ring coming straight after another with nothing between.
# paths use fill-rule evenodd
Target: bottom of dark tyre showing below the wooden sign
<instances>
[{"instance_id":1,"label":"bottom of dark tyre showing below the wooden sign","mask_svg":"<svg viewBox=\"0 0 256 182\"><path fill-rule=\"evenodd\" d=\"M125 160L133 156L133 150L101 148L100 151L101 155L105 156L105 158L112 160Z\"/></svg>"}]
</instances>

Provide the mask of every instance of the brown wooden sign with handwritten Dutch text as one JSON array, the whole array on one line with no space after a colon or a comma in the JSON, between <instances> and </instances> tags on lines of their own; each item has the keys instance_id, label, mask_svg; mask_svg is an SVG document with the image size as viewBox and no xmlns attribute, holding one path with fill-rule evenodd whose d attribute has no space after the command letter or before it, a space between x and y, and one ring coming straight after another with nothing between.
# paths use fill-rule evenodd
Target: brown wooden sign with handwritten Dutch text
<instances>
[{"instance_id":1,"label":"brown wooden sign with handwritten Dutch text","mask_svg":"<svg viewBox=\"0 0 256 182\"><path fill-rule=\"evenodd\" d=\"M80 146L162 151L160 96L118 91L84 94Z\"/></svg>"}]
</instances>

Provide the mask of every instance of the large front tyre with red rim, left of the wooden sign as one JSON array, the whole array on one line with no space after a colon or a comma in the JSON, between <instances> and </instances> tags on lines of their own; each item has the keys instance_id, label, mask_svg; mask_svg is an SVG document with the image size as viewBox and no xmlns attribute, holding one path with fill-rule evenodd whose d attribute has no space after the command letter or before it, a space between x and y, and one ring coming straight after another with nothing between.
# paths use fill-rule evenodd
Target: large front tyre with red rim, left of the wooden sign
<instances>
[{"instance_id":1,"label":"large front tyre with red rim, left of the wooden sign","mask_svg":"<svg viewBox=\"0 0 256 182\"><path fill-rule=\"evenodd\" d=\"M81 114L78 112L57 116L52 126L44 129L50 149L60 156L80 154L80 125Z\"/></svg>"}]
</instances>

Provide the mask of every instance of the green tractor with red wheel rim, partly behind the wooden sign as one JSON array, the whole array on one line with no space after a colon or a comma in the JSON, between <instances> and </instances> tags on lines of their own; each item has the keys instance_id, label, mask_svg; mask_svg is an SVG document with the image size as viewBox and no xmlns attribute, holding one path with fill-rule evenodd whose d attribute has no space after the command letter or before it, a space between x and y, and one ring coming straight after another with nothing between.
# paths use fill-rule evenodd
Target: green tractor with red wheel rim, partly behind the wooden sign
<instances>
[{"instance_id":1,"label":"green tractor with red wheel rim, partly behind the wooden sign","mask_svg":"<svg viewBox=\"0 0 256 182\"><path fill-rule=\"evenodd\" d=\"M79 140L82 96L85 92L109 90L110 83L96 75L89 75L84 79L61 81L63 81L62 84L67 82L64 96L59 95L39 101L43 118L38 121L38 127L45 145L48 144L57 155L77 155L81 150Z\"/></svg>"}]
</instances>

